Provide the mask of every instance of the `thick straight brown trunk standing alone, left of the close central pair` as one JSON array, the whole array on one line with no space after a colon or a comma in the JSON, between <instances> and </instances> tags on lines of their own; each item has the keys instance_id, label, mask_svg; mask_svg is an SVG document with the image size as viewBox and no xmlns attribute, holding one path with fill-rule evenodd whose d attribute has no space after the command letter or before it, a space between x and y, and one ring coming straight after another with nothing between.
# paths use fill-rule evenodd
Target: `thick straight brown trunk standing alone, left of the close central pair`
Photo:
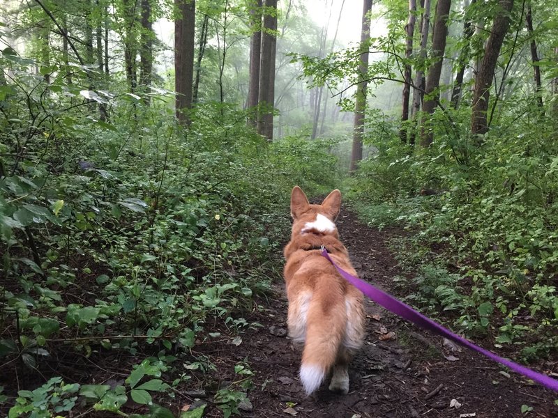
<instances>
[{"instance_id":1,"label":"thick straight brown trunk standing alone, left of the close central pair","mask_svg":"<svg viewBox=\"0 0 558 418\"><path fill-rule=\"evenodd\" d=\"M174 0L179 17L174 22L174 89L176 118L190 125L188 109L192 107L195 45L195 0Z\"/></svg>"}]
</instances>

